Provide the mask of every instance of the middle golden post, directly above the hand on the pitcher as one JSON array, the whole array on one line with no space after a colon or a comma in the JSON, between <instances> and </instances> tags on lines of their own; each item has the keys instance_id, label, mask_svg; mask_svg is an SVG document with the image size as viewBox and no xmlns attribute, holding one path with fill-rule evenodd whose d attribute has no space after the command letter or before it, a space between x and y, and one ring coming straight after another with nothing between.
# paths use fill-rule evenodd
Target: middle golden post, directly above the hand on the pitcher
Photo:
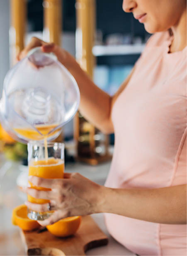
<instances>
[{"instance_id":1,"label":"middle golden post, directly above the hand on the pitcher","mask_svg":"<svg viewBox=\"0 0 187 256\"><path fill-rule=\"evenodd\" d=\"M61 46L62 0L45 0L43 6L46 39Z\"/></svg>"}]
</instances>

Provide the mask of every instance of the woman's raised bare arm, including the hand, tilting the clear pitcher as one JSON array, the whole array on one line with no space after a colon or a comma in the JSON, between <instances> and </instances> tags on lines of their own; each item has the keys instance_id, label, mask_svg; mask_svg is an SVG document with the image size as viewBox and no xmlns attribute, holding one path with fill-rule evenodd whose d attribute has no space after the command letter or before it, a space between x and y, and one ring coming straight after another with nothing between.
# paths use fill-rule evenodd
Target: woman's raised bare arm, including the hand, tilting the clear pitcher
<instances>
[{"instance_id":1,"label":"woman's raised bare arm, including the hand, tilting the clear pitcher","mask_svg":"<svg viewBox=\"0 0 187 256\"><path fill-rule=\"evenodd\" d=\"M129 82L132 72L121 85L119 91L113 97L110 97L109 94L102 91L102 89L92 82L90 77L88 77L88 75L81 69L80 65L76 62L75 58L70 55L70 53L53 43L46 43L36 37L33 37L29 45L27 45L27 47L25 47L25 49L17 56L17 60L21 60L27 55L29 50L39 46L42 47L44 52L55 53L58 60L75 78L80 89L80 112L83 116L102 132L114 132L111 120L112 106L119 93Z\"/></svg>"}]
</instances>

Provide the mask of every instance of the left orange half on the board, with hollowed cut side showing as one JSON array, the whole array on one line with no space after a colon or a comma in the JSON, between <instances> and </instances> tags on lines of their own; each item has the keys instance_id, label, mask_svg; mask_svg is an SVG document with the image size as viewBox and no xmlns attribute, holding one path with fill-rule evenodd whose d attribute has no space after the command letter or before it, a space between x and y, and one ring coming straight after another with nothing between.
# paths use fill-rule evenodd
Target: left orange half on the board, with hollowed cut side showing
<instances>
[{"instance_id":1,"label":"left orange half on the board, with hollowed cut side showing","mask_svg":"<svg viewBox=\"0 0 187 256\"><path fill-rule=\"evenodd\" d=\"M27 206L22 204L15 207L12 211L12 224L19 226L25 231L31 231L39 228L40 224L37 221L27 217Z\"/></svg>"}]
</instances>

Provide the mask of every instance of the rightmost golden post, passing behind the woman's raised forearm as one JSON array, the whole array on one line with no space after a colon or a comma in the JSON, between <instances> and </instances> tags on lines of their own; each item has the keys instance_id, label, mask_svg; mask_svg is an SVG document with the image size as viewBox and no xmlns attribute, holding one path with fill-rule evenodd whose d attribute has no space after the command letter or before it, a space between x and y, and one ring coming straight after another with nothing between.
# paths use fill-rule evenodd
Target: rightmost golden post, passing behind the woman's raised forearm
<instances>
[{"instance_id":1,"label":"rightmost golden post, passing behind the woman's raised forearm","mask_svg":"<svg viewBox=\"0 0 187 256\"><path fill-rule=\"evenodd\" d=\"M92 54L92 48L95 41L95 0L76 0L75 7L77 13L76 59L83 70L93 79L95 57ZM75 116L74 120L74 138L78 143L78 159L93 165L108 160L110 158L108 155L108 137L104 141L106 154L98 156L95 152L95 127L91 124L88 125L88 122L83 117L79 117L79 114ZM83 130L83 126L87 127L87 131L80 131L80 129ZM89 148L86 144L87 133L89 133ZM87 152L88 150L89 152Z\"/></svg>"}]
</instances>

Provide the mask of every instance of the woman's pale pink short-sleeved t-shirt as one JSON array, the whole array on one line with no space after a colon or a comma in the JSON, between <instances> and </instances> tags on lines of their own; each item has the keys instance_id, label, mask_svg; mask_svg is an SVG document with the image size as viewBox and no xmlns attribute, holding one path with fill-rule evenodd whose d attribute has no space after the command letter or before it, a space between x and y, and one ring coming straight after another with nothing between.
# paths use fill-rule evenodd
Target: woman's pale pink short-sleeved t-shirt
<instances>
[{"instance_id":1,"label":"woman's pale pink short-sleeved t-shirt","mask_svg":"<svg viewBox=\"0 0 187 256\"><path fill-rule=\"evenodd\" d=\"M155 33L149 39L129 84L114 103L115 146L105 186L186 184L187 47L168 53L171 40L168 32ZM186 225L116 214L105 214L105 220L114 239L136 254L187 255Z\"/></svg>"}]
</instances>

